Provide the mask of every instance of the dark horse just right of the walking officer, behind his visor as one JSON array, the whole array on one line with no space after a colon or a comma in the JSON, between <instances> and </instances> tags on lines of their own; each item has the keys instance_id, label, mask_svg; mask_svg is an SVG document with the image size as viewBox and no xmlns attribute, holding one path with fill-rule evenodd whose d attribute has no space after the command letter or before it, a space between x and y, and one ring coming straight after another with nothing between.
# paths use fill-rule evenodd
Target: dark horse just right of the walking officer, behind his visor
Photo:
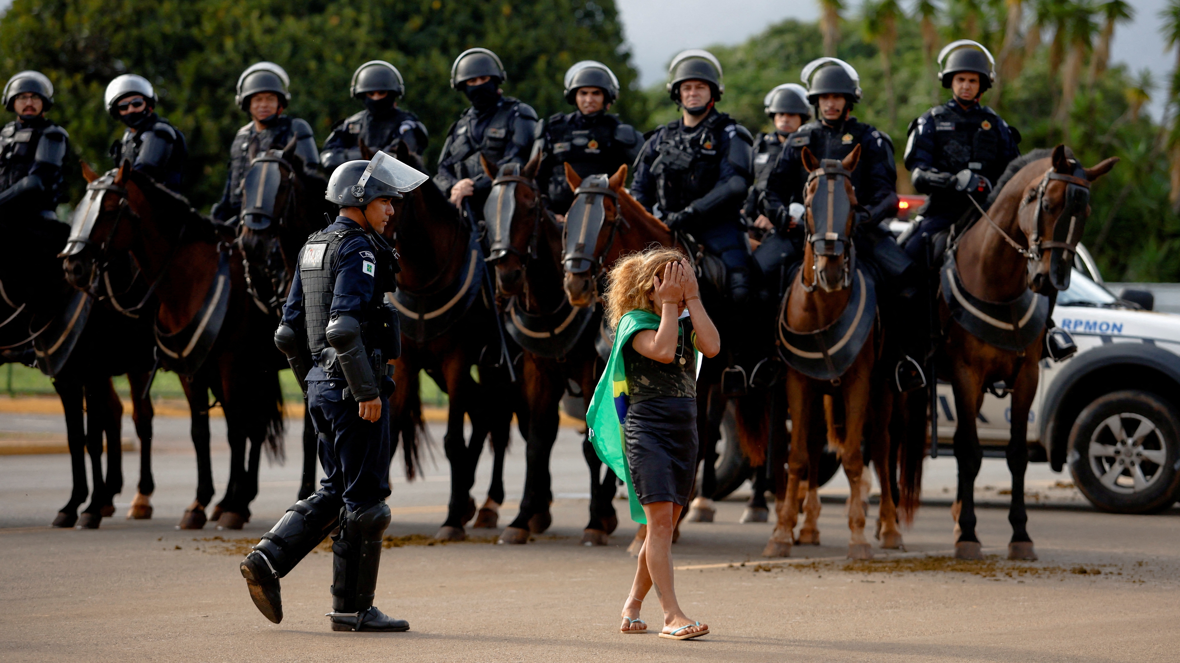
<instances>
[{"instance_id":1,"label":"dark horse just right of the walking officer, behind his visor","mask_svg":"<svg viewBox=\"0 0 1180 663\"><path fill-rule=\"evenodd\" d=\"M405 144L394 156L425 170ZM487 288L484 250L471 219L460 216L432 182L406 195L385 234L400 255L398 291L387 295L398 309L402 344L401 356L394 361L398 388L389 396L391 431L401 439L406 472L412 477L417 434L422 429L419 374L426 370L448 396L442 444L451 465L451 498L435 538L464 540L464 527L477 513L474 526L497 525L504 504L504 453L512 416L512 406L504 400L503 372L493 366L504 357L497 342L502 332L493 314L494 294ZM472 366L478 367L479 382L471 375ZM464 439L464 415L471 416L470 444ZM471 487L489 434L496 459L492 485L477 512Z\"/></svg>"}]
</instances>

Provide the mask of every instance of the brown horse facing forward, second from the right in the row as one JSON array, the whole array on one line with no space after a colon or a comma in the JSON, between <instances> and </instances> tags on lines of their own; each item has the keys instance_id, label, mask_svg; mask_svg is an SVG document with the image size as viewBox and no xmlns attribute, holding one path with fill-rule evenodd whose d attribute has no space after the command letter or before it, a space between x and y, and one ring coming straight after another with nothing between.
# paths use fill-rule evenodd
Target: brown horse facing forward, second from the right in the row
<instances>
[{"instance_id":1,"label":"brown horse facing forward, second from the right in the row","mask_svg":"<svg viewBox=\"0 0 1180 663\"><path fill-rule=\"evenodd\" d=\"M873 281L854 258L852 231L857 195L851 173L860 160L858 146L844 160L819 162L804 147L807 242L802 265L792 280L779 313L779 344L787 362L786 393L791 420L791 452L786 481L776 481L778 524L762 554L787 557L794 543L819 544L818 483L807 486L802 504L805 523L794 538L799 518L800 484L819 477L821 444L811 429L822 426L813 418L817 396L825 401L828 445L835 447L848 478L848 557L872 558L865 539L865 501L868 481L861 442L868 426L868 448L881 487L883 547L902 547L891 491L889 455L892 396L877 366L881 335L877 323ZM844 406L844 433L838 431L837 405ZM809 442L809 444L808 444Z\"/></svg>"}]
</instances>

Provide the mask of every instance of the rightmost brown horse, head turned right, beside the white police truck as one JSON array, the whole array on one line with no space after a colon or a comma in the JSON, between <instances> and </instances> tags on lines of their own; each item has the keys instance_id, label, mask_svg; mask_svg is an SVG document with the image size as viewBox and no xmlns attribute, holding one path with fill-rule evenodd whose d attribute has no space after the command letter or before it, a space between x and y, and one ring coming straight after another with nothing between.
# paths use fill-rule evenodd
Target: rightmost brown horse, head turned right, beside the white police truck
<instances>
[{"instance_id":1,"label":"rightmost brown horse, head turned right, beside the white police truck","mask_svg":"<svg viewBox=\"0 0 1180 663\"><path fill-rule=\"evenodd\" d=\"M1056 293L1069 287L1077 242L1089 216L1090 183L1119 162L1083 168L1064 145L1034 150L1009 164L977 221L952 236L939 268L937 366L955 390L958 492L955 557L982 559L976 536L975 478L983 451L976 433L984 389L1011 394L1004 455L1012 475L1009 559L1036 559L1024 508L1028 420L1040 378L1045 323ZM952 323L953 322L953 323ZM937 444L937 439L932 440Z\"/></svg>"}]
</instances>

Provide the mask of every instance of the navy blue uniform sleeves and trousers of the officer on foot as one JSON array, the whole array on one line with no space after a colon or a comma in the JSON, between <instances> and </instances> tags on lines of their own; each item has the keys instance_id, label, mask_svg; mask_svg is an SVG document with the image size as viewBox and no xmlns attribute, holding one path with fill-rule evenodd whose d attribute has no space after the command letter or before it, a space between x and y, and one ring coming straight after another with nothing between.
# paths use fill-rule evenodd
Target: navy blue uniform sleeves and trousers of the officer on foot
<instances>
[{"instance_id":1,"label":"navy blue uniform sleeves and trousers of the officer on foot","mask_svg":"<svg viewBox=\"0 0 1180 663\"><path fill-rule=\"evenodd\" d=\"M322 232L355 230L360 225L337 216ZM376 283L374 247L361 234L346 237L329 265L335 277L330 314L347 314L366 319ZM296 270L283 323L293 329L306 328L303 285ZM389 402L381 399L381 418L365 421L358 413L356 401L345 394L348 383L341 376L324 373L319 356L307 374L307 405L320 438L320 465L324 477L320 492L343 499L348 511L358 511L385 499L389 494Z\"/></svg>"}]
</instances>

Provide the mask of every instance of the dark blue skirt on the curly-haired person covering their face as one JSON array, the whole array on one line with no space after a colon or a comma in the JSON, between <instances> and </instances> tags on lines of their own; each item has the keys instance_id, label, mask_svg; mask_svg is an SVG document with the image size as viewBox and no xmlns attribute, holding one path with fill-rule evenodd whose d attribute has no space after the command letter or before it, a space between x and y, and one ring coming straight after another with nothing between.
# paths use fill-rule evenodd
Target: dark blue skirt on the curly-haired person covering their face
<instances>
[{"instance_id":1,"label":"dark blue skirt on the curly-haired person covering their face","mask_svg":"<svg viewBox=\"0 0 1180 663\"><path fill-rule=\"evenodd\" d=\"M640 504L688 504L696 479L696 399L656 396L627 409L627 465Z\"/></svg>"}]
</instances>

